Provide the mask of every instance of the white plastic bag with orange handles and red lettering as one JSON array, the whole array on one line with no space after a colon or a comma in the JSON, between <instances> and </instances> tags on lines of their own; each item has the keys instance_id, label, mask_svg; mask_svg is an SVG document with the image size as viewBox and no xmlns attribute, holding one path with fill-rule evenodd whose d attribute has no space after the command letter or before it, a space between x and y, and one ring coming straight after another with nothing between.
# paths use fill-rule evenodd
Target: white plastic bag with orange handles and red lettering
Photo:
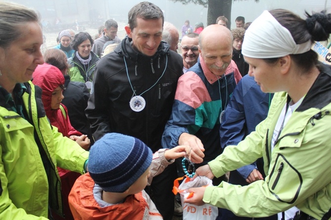
<instances>
[{"instance_id":1,"label":"white plastic bag with orange handles and red lettering","mask_svg":"<svg viewBox=\"0 0 331 220\"><path fill-rule=\"evenodd\" d=\"M215 220L218 216L218 208L209 204L203 206L196 206L189 203L184 203L184 198L186 198L190 193L186 191L188 188L200 187L200 186L210 186L212 181L207 177L197 177L194 181L189 181L189 178L185 178L184 181L178 186L178 178L174 182L174 188L176 184L178 187L178 192L180 193L180 200L183 208L183 220ZM173 190L174 192L176 190Z\"/></svg>"}]
</instances>

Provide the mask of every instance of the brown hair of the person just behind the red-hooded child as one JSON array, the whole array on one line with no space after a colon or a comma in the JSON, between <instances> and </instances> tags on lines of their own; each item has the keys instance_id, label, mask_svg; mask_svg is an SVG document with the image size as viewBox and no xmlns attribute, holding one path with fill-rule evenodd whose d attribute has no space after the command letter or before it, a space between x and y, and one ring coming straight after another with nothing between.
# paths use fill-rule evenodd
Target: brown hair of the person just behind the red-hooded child
<instances>
[{"instance_id":1,"label":"brown hair of the person just behind the red-hooded child","mask_svg":"<svg viewBox=\"0 0 331 220\"><path fill-rule=\"evenodd\" d=\"M48 49L43 54L44 62L57 67L62 73L69 69L67 55L59 49Z\"/></svg>"}]
</instances>

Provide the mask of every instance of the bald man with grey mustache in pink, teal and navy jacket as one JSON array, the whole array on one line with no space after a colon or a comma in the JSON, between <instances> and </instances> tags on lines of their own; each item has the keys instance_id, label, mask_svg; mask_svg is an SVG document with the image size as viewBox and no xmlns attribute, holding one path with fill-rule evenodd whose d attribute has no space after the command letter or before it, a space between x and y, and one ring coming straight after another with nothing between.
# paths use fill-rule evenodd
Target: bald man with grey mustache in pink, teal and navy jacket
<instances>
[{"instance_id":1,"label":"bald man with grey mustache in pink, teal and navy jacket","mask_svg":"<svg viewBox=\"0 0 331 220\"><path fill-rule=\"evenodd\" d=\"M242 78L232 61L232 43L229 29L216 24L207 26L199 36L197 64L178 79L162 146L189 145L195 168L222 153L219 137L221 112ZM182 48L184 46L182 42ZM213 183L217 185L223 180L225 177L215 179Z\"/></svg>"}]
</instances>

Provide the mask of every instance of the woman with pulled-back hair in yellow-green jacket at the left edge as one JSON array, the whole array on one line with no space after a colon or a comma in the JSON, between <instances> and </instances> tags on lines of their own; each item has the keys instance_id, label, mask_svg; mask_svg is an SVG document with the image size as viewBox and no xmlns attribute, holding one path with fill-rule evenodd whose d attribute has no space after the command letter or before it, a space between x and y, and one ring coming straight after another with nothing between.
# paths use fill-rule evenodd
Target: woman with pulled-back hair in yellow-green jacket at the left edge
<instances>
[{"instance_id":1,"label":"woman with pulled-back hair in yellow-green jacket at the left edge","mask_svg":"<svg viewBox=\"0 0 331 220\"><path fill-rule=\"evenodd\" d=\"M43 63L35 11L0 2L0 219L61 215L56 167L83 173L88 152L52 127L41 89L30 81Z\"/></svg>"}]
</instances>

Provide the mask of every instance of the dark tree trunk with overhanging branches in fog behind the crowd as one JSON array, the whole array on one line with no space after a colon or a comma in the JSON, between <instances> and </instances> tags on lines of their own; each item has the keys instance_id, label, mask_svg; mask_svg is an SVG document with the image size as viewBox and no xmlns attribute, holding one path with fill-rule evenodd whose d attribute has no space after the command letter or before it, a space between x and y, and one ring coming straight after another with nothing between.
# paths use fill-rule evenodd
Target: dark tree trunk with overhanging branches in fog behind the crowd
<instances>
[{"instance_id":1,"label":"dark tree trunk with overhanging branches in fog behind the crowd","mask_svg":"<svg viewBox=\"0 0 331 220\"><path fill-rule=\"evenodd\" d=\"M231 27L231 6L232 0L172 0L182 4L195 3L208 7L207 25L215 24L218 16L224 15L229 20ZM258 2L259 0L254 0Z\"/></svg>"}]
</instances>

